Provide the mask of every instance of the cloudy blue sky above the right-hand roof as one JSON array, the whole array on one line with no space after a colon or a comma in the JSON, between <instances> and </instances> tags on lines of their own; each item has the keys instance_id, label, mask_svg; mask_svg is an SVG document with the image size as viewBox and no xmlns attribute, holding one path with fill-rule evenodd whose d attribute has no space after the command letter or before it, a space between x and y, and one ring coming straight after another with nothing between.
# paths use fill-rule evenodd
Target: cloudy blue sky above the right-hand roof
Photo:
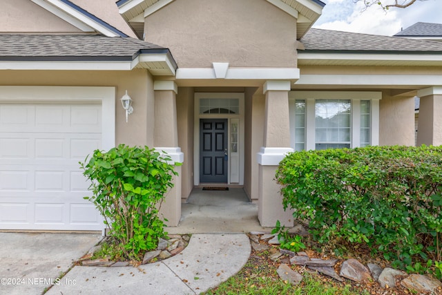
<instances>
[{"instance_id":1,"label":"cloudy blue sky above the right-hand roof","mask_svg":"<svg viewBox=\"0 0 442 295\"><path fill-rule=\"evenodd\" d=\"M392 36L419 21L442 23L442 0L418 0L408 8L390 8L387 12L378 5L363 11L364 4L354 0L321 1L326 6L313 28ZM383 0L387 1L393 2Z\"/></svg>"}]
</instances>

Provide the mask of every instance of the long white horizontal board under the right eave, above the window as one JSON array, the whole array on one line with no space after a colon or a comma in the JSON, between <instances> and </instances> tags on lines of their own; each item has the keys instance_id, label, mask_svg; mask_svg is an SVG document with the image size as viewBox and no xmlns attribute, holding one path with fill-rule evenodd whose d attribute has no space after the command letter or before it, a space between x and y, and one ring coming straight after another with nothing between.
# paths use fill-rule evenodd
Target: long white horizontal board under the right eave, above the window
<instances>
[{"instance_id":1,"label":"long white horizontal board under the right eave, above the window","mask_svg":"<svg viewBox=\"0 0 442 295\"><path fill-rule=\"evenodd\" d=\"M295 85L440 85L440 75L301 75Z\"/></svg>"}]
</instances>

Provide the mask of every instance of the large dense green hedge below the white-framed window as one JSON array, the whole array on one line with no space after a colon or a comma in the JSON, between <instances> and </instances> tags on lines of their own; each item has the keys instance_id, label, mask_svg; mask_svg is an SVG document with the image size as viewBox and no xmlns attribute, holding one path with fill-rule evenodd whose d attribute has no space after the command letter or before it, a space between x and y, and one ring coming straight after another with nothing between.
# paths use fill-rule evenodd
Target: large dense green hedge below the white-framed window
<instances>
[{"instance_id":1,"label":"large dense green hedge below the white-framed window","mask_svg":"<svg viewBox=\"0 0 442 295\"><path fill-rule=\"evenodd\" d=\"M441 167L440 146L369 146L290 153L276 179L315 240L365 243L405 268L442 260Z\"/></svg>"}]
</instances>

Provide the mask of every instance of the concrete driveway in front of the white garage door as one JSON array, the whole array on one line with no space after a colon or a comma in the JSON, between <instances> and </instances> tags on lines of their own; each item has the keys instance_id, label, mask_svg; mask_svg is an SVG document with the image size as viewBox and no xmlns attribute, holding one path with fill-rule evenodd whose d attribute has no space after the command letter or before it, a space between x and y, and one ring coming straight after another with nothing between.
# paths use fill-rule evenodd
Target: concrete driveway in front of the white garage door
<instances>
[{"instance_id":1,"label":"concrete driveway in front of the white garage door","mask_svg":"<svg viewBox=\"0 0 442 295\"><path fill-rule=\"evenodd\" d=\"M101 234L0 233L0 294L42 294Z\"/></svg>"}]
</instances>

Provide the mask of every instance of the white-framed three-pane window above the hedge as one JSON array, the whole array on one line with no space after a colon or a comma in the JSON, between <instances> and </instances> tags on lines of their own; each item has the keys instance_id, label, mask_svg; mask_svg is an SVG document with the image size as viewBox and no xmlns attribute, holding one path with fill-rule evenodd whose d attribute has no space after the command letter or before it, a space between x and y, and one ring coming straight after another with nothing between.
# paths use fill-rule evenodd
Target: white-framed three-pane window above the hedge
<instances>
[{"instance_id":1,"label":"white-framed three-pane window above the hedge","mask_svg":"<svg viewBox=\"0 0 442 295\"><path fill-rule=\"evenodd\" d=\"M291 91L291 147L338 149L378 144L381 93Z\"/></svg>"}]
</instances>

